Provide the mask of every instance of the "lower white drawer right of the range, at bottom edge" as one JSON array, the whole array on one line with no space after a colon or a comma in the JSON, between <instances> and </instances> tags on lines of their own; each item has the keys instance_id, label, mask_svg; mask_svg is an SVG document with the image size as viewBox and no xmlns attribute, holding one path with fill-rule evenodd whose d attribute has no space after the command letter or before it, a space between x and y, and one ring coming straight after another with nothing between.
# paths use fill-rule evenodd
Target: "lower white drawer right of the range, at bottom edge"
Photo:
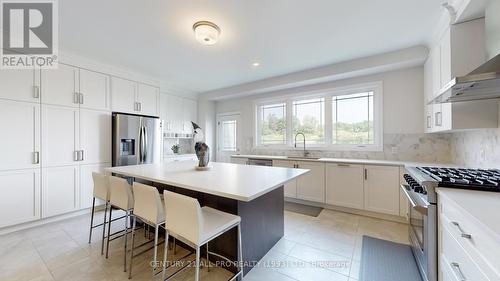
<instances>
[{"instance_id":1,"label":"lower white drawer right of the range, at bottom edge","mask_svg":"<svg viewBox=\"0 0 500 281\"><path fill-rule=\"evenodd\" d=\"M448 266L457 280L492 281L453 238L446 227L441 227L441 271ZM453 280L453 279L452 279Z\"/></svg>"}]
</instances>

